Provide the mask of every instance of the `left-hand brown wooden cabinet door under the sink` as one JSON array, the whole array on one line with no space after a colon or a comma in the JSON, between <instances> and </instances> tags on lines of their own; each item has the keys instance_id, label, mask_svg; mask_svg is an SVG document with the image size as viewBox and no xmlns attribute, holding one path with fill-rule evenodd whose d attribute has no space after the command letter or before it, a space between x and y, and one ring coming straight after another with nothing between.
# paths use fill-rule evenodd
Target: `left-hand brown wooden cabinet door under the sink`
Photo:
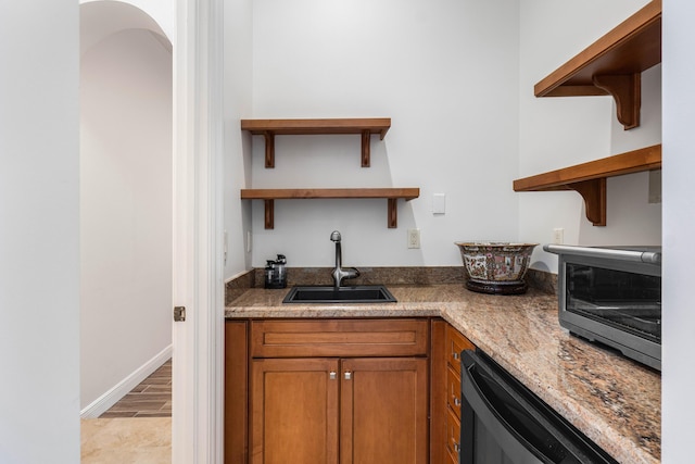
<instances>
[{"instance_id":1,"label":"left-hand brown wooden cabinet door under the sink","mask_svg":"<svg viewBox=\"0 0 695 464\"><path fill-rule=\"evenodd\" d=\"M251 462L338 463L334 359L253 360Z\"/></svg>"}]
</instances>

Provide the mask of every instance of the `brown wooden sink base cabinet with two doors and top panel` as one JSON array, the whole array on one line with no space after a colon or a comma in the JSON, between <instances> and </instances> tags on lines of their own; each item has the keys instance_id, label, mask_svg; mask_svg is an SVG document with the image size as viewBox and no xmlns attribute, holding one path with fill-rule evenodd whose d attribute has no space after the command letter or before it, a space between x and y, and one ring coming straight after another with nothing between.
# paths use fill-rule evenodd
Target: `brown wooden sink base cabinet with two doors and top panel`
<instances>
[{"instance_id":1,"label":"brown wooden sink base cabinet with two doors and top panel","mask_svg":"<svg viewBox=\"0 0 695 464\"><path fill-rule=\"evenodd\" d=\"M429 462L429 319L249 321L247 344L230 324L249 375L240 394L226 361L225 424L248 434L225 431L226 464Z\"/></svg>"}]
</instances>

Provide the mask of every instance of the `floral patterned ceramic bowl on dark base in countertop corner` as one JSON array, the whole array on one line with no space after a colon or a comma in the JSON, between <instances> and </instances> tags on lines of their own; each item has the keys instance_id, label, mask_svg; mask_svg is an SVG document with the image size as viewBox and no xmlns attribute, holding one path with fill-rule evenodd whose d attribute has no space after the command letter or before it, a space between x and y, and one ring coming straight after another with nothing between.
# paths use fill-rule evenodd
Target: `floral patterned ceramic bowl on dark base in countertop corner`
<instances>
[{"instance_id":1,"label":"floral patterned ceramic bowl on dark base in countertop corner","mask_svg":"<svg viewBox=\"0 0 695 464\"><path fill-rule=\"evenodd\" d=\"M531 253L538 243L505 241L455 242L468 273L466 287L482 293L518 294L526 292L523 280Z\"/></svg>"}]
</instances>

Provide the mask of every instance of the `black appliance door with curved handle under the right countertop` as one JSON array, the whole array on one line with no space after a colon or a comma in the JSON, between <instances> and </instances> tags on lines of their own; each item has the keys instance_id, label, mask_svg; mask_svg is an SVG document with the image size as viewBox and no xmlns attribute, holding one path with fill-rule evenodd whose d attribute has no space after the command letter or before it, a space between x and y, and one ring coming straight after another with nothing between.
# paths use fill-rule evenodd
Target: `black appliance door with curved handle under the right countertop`
<instances>
[{"instance_id":1,"label":"black appliance door with curved handle under the right countertop","mask_svg":"<svg viewBox=\"0 0 695 464\"><path fill-rule=\"evenodd\" d=\"M481 351L462 353L462 464L616 463Z\"/></svg>"}]
</instances>

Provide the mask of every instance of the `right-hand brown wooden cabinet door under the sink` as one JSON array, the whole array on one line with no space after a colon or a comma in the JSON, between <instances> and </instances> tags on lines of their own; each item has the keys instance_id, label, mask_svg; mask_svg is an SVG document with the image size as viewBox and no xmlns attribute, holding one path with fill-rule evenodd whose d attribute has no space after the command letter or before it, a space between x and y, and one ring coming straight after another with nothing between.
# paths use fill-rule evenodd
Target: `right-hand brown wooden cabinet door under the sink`
<instances>
[{"instance_id":1,"label":"right-hand brown wooden cabinet door under the sink","mask_svg":"<svg viewBox=\"0 0 695 464\"><path fill-rule=\"evenodd\" d=\"M428 462L424 358L348 359L341 366L341 464Z\"/></svg>"}]
</instances>

